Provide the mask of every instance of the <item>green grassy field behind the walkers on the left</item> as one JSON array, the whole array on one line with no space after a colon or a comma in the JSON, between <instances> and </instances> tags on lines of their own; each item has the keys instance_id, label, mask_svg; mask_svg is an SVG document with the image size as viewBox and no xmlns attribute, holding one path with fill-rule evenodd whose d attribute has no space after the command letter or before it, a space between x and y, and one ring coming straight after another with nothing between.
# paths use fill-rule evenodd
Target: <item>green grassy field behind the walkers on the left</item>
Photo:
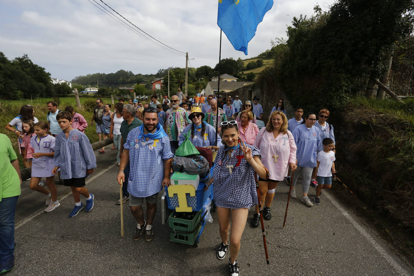
<instances>
[{"instance_id":1,"label":"green grassy field behind the walkers on the left","mask_svg":"<svg viewBox=\"0 0 414 276\"><path fill-rule=\"evenodd\" d=\"M118 97L116 97L117 99ZM101 98L103 103L111 103L111 98ZM66 106L73 106L75 108L75 111L79 114L82 114L84 118L88 122L88 127L85 129L85 134L88 136L89 141L91 143L98 141L98 134L96 134L95 125L91 126L91 118L93 115L93 107L95 106L94 102L96 100L96 96L93 95L79 95L79 100L81 103L81 109L78 109L76 107L76 100L75 96L68 96L68 97L62 97L59 99L60 103L58 103L58 109L59 110L65 110ZM34 108L34 116L39 121L45 121L46 122L46 115L48 113L48 108L46 107L46 103L48 101L53 101L53 98L39 98L39 99L25 99L25 100L16 100L16 101L7 101L7 100L1 100L1 116L0 116L0 133L6 134L10 141L12 141L12 145L14 148L14 151L16 152L17 156L19 156L19 162L20 166L22 167L22 156L19 154L19 148L17 145L17 137L9 130L6 130L4 128L7 123L9 123L14 117L19 115L20 108L23 105L29 104L33 106ZM115 103L117 100L115 100ZM114 108L112 106L111 110L113 111Z\"/></svg>"}]
</instances>

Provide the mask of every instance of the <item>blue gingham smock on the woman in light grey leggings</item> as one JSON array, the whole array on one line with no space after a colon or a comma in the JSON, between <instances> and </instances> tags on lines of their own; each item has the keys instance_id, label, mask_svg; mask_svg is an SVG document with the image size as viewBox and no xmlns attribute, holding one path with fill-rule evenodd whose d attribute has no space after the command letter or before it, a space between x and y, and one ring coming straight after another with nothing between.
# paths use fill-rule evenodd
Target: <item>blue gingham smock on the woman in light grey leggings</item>
<instances>
[{"instance_id":1,"label":"blue gingham smock on the woman in light grey leggings","mask_svg":"<svg viewBox=\"0 0 414 276\"><path fill-rule=\"evenodd\" d=\"M305 124L301 124L293 131L296 147L296 159L298 166L302 168L316 167L316 154L320 143L320 134L314 125L308 130Z\"/></svg>"}]
</instances>

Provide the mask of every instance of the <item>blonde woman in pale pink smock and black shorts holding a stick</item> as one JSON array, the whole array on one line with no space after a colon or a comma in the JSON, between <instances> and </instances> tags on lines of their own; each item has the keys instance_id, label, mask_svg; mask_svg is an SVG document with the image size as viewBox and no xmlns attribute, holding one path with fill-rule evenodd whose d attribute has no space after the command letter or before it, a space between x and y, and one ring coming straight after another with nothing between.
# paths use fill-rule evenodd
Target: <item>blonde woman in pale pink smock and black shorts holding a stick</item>
<instances>
[{"instance_id":1,"label":"blonde woman in pale pink smock and black shorts holding a stick","mask_svg":"<svg viewBox=\"0 0 414 276\"><path fill-rule=\"evenodd\" d=\"M287 130L287 118L282 111L270 114L270 120L256 136L253 146L260 149L262 163L270 173L267 180L259 178L260 202L265 206L263 218L270 220L274 190L279 181L284 179L288 164L292 170L296 168L296 144L292 133ZM259 206L256 205L256 213L250 221L251 226L257 227L259 218Z\"/></svg>"}]
</instances>

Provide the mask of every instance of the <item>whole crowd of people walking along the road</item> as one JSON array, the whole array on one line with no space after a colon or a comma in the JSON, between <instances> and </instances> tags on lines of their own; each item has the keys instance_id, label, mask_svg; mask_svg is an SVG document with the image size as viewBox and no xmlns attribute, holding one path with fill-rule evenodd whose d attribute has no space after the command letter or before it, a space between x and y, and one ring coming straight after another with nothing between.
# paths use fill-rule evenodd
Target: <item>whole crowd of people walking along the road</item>
<instances>
[{"instance_id":1,"label":"whole crowd of people walking along the road","mask_svg":"<svg viewBox=\"0 0 414 276\"><path fill-rule=\"evenodd\" d=\"M227 96L223 101L221 95L197 94L191 98L178 91L171 99L164 96L162 101L160 99L162 103L155 94L150 103L134 99L124 105L124 99L119 98L113 112L111 104L96 99L90 125L95 124L100 141L102 135L103 139L108 136L113 139L112 149L118 151L116 180L123 185L123 195L117 203L129 200L132 216L137 222L134 240L141 237L147 241L154 239L152 222L158 193L164 186L171 185L172 158L186 137L194 146L217 146L218 149L214 170L205 182L205 190L214 184L221 237L216 256L224 259L229 249L231 275L239 275L237 255L251 206L255 206L255 213L250 218L250 225L259 225L256 181L265 220L272 218L274 193L279 182L285 179L292 188L290 196L297 198L296 183L301 175L301 202L313 206L308 197L309 187L313 186L316 188L313 202L320 204L321 190L331 187L332 173L336 173L334 128L326 122L329 110L323 108L318 113L308 112L302 118L304 110L297 107L291 110L294 117L288 120L284 100L279 99L264 125L265 112L259 100L254 96L243 104L239 96L235 99ZM39 122L34 117L33 107L25 105L5 128L19 137L24 166L31 167L30 188L45 195L45 211L51 212L60 206L54 182L55 175L59 175L64 185L72 190L75 206L69 216L74 217L82 209L89 212L94 207L94 194L85 187L85 178L96 168L94 151L84 134L88 123L72 106L62 111L54 101L49 101L47 107L47 122ZM14 265L14 238L11 237L22 180L10 140L0 134L0 142L6 145L0 150L0 157L10 160L4 168L7 177L5 173L1 175L3 194L0 204L9 210L7 216L1 216L1 223L8 226L0 230L0 261L1 269L4 269ZM99 153L105 153L105 146ZM295 171L293 179L292 171ZM41 178L46 179L47 188L39 185ZM9 184L5 189L6 182ZM85 205L81 195L86 200ZM142 209L144 199L147 204L145 215Z\"/></svg>"}]
</instances>

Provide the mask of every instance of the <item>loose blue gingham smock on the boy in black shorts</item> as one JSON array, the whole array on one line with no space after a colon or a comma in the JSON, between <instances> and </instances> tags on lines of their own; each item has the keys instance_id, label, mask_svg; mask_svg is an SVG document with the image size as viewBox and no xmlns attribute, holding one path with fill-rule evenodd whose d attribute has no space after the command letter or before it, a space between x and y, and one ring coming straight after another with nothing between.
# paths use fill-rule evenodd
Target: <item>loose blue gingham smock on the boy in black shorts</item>
<instances>
[{"instance_id":1,"label":"loose blue gingham smock on the boy in black shorts","mask_svg":"<svg viewBox=\"0 0 414 276\"><path fill-rule=\"evenodd\" d=\"M66 138L65 132L59 132L55 140L55 167L60 168L60 178L89 177L86 170L96 168L96 157L88 137L73 129Z\"/></svg>"}]
</instances>

